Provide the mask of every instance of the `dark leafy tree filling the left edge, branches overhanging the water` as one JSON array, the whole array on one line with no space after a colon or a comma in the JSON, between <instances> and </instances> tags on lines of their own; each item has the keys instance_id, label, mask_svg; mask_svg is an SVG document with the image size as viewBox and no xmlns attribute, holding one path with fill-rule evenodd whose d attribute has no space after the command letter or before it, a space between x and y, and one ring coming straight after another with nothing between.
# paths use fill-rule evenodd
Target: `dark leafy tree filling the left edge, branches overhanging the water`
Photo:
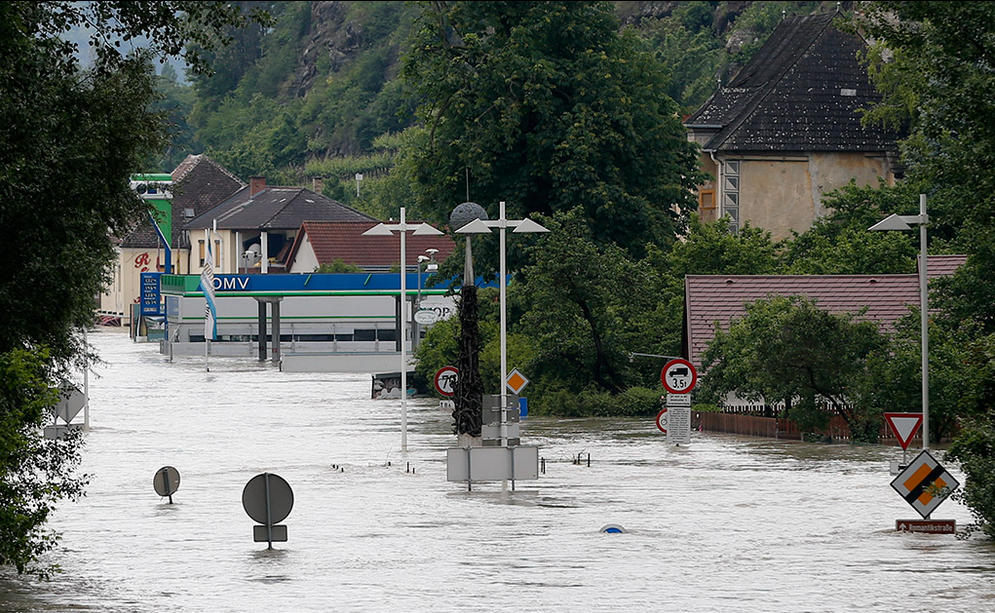
<instances>
[{"instance_id":1,"label":"dark leafy tree filling the left edge, branches overhanging the water","mask_svg":"<svg viewBox=\"0 0 995 613\"><path fill-rule=\"evenodd\" d=\"M0 227L19 258L0 271L0 564L31 568L53 542L48 513L82 485L70 470L76 443L45 443L38 425L53 401L47 390L87 352L79 330L110 280L110 235L149 213L129 177L168 136L153 110L151 59L191 44L185 57L203 69L197 49L241 21L220 2L0 4ZM88 70L60 38L84 24L94 32ZM150 51L120 55L116 41L140 36Z\"/></svg>"}]
</instances>

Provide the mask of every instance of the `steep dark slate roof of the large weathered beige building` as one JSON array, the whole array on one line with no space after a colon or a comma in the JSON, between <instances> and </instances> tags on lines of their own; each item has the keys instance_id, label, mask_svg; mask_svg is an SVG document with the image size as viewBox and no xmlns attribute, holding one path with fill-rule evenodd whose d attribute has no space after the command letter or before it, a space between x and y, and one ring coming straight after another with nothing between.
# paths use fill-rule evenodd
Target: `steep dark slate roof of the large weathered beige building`
<instances>
[{"instance_id":1,"label":"steep dark slate roof of the large weathered beige building","mask_svg":"<svg viewBox=\"0 0 995 613\"><path fill-rule=\"evenodd\" d=\"M691 117L713 133L706 151L897 151L896 135L862 126L880 100L858 53L866 43L833 25L838 13L783 20L727 86Z\"/></svg>"}]
</instances>

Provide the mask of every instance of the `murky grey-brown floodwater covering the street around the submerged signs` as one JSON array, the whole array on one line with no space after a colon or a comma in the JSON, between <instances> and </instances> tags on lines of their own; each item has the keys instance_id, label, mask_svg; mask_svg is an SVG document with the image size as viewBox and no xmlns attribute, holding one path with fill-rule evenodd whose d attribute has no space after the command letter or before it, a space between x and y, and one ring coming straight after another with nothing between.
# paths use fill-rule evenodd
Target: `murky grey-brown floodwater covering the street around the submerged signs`
<instances>
[{"instance_id":1,"label":"murky grey-brown floodwater covering the street around the submerged signs","mask_svg":"<svg viewBox=\"0 0 995 613\"><path fill-rule=\"evenodd\" d=\"M51 522L62 572L3 572L0 611L995 609L990 542L895 532L918 517L889 485L897 447L693 433L668 448L653 419L531 418L546 473L468 492L446 481L437 401L409 402L405 454L400 403L371 400L368 376L206 372L120 331L90 340L106 363L89 493ZM181 475L174 504L153 490L163 466ZM272 551L241 504L262 472L294 492ZM970 521L950 500L933 517Z\"/></svg>"}]
</instances>

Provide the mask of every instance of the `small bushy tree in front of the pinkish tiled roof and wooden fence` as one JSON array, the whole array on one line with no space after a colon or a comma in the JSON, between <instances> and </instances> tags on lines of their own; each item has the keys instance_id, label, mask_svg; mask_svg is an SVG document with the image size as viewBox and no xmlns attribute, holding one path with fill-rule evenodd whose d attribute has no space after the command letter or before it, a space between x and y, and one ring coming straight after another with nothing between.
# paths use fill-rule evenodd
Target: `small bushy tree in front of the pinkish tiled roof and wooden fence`
<instances>
[{"instance_id":1,"label":"small bushy tree in front of the pinkish tiled roof and wooden fence","mask_svg":"<svg viewBox=\"0 0 995 613\"><path fill-rule=\"evenodd\" d=\"M772 297L747 306L728 331L716 330L702 356L704 390L767 404L784 402L787 416L818 428L823 404L846 420L855 440L877 441L880 413L860 396L870 364L888 353L873 322L824 311L814 301Z\"/></svg>"}]
</instances>

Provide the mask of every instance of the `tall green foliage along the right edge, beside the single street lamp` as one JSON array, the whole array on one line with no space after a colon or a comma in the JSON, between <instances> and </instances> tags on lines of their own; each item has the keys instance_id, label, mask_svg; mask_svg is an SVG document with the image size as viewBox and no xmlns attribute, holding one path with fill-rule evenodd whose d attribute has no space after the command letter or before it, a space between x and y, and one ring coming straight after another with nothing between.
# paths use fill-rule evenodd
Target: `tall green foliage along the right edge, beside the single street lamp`
<instances>
[{"instance_id":1,"label":"tall green foliage along the right edge, beside the single street lamp","mask_svg":"<svg viewBox=\"0 0 995 613\"><path fill-rule=\"evenodd\" d=\"M990 445L995 410L995 5L871 2L856 24L880 41L868 56L884 94L869 121L907 124L909 177L927 187L931 240L968 254L950 279L931 285L943 330L966 354L973 383L958 390L969 417L952 457L968 476L965 501L992 535ZM905 211L912 213L914 211Z\"/></svg>"}]
</instances>

